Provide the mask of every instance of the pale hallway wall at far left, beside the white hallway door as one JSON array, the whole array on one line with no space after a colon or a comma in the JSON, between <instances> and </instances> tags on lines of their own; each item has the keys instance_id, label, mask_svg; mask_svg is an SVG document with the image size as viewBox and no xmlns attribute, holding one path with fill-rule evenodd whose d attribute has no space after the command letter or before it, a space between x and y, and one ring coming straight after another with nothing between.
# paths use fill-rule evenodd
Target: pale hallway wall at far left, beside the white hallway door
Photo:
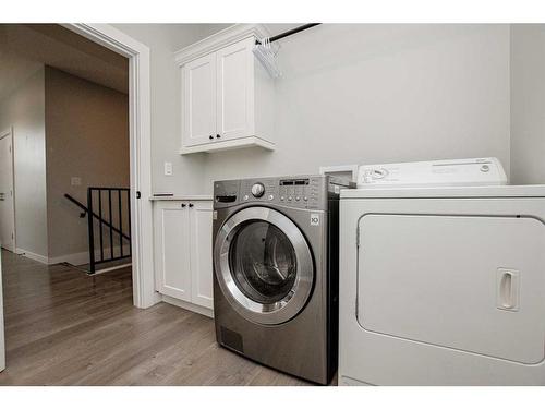
<instances>
[{"instance_id":1,"label":"pale hallway wall at far left, beside the white hallway door","mask_svg":"<svg viewBox=\"0 0 545 409\"><path fill-rule=\"evenodd\" d=\"M0 129L13 127L19 249L47 256L44 69L0 101Z\"/></svg>"}]
</instances>

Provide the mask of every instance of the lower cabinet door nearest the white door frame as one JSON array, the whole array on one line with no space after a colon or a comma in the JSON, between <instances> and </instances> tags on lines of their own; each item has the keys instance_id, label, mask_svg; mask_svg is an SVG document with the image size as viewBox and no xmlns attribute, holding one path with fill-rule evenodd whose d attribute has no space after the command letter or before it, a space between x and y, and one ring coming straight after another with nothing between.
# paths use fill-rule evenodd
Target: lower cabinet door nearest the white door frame
<instances>
[{"instance_id":1,"label":"lower cabinet door nearest the white door frame","mask_svg":"<svg viewBox=\"0 0 545 409\"><path fill-rule=\"evenodd\" d=\"M191 302L190 216L182 202L155 207L156 290Z\"/></svg>"}]
</instances>

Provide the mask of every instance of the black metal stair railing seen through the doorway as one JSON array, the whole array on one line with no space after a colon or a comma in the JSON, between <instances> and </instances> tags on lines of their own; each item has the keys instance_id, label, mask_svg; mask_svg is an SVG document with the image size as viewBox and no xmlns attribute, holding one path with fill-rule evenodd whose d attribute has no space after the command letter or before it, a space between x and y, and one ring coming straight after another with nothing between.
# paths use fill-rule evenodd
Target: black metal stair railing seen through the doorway
<instances>
[{"instance_id":1,"label":"black metal stair railing seen through the doorway","mask_svg":"<svg viewBox=\"0 0 545 409\"><path fill-rule=\"evenodd\" d=\"M87 206L70 194L64 196L87 216L89 274L97 267L132 256L131 203L128 188L88 188Z\"/></svg>"}]
</instances>

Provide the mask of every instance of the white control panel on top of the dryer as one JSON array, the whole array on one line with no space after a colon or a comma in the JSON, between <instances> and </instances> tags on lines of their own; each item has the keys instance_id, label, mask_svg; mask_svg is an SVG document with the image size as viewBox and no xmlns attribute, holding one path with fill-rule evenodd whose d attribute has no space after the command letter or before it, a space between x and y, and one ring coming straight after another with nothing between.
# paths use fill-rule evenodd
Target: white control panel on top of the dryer
<instances>
[{"instance_id":1,"label":"white control panel on top of the dryer","mask_svg":"<svg viewBox=\"0 0 545 409\"><path fill-rule=\"evenodd\" d=\"M362 165L358 171L358 188L500 184L507 184L507 176L497 158Z\"/></svg>"}]
</instances>

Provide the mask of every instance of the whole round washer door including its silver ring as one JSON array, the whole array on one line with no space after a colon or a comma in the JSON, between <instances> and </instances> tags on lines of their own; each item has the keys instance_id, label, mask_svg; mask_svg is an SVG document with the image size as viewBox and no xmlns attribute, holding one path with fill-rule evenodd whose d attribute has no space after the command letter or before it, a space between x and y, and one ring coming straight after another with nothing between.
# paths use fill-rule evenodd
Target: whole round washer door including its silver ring
<instances>
[{"instance_id":1,"label":"whole round washer door including its silver ring","mask_svg":"<svg viewBox=\"0 0 545 409\"><path fill-rule=\"evenodd\" d=\"M223 222L214 244L214 269L231 306L259 324L281 324L298 315L314 282L303 233L267 207L246 207Z\"/></svg>"}]
</instances>

